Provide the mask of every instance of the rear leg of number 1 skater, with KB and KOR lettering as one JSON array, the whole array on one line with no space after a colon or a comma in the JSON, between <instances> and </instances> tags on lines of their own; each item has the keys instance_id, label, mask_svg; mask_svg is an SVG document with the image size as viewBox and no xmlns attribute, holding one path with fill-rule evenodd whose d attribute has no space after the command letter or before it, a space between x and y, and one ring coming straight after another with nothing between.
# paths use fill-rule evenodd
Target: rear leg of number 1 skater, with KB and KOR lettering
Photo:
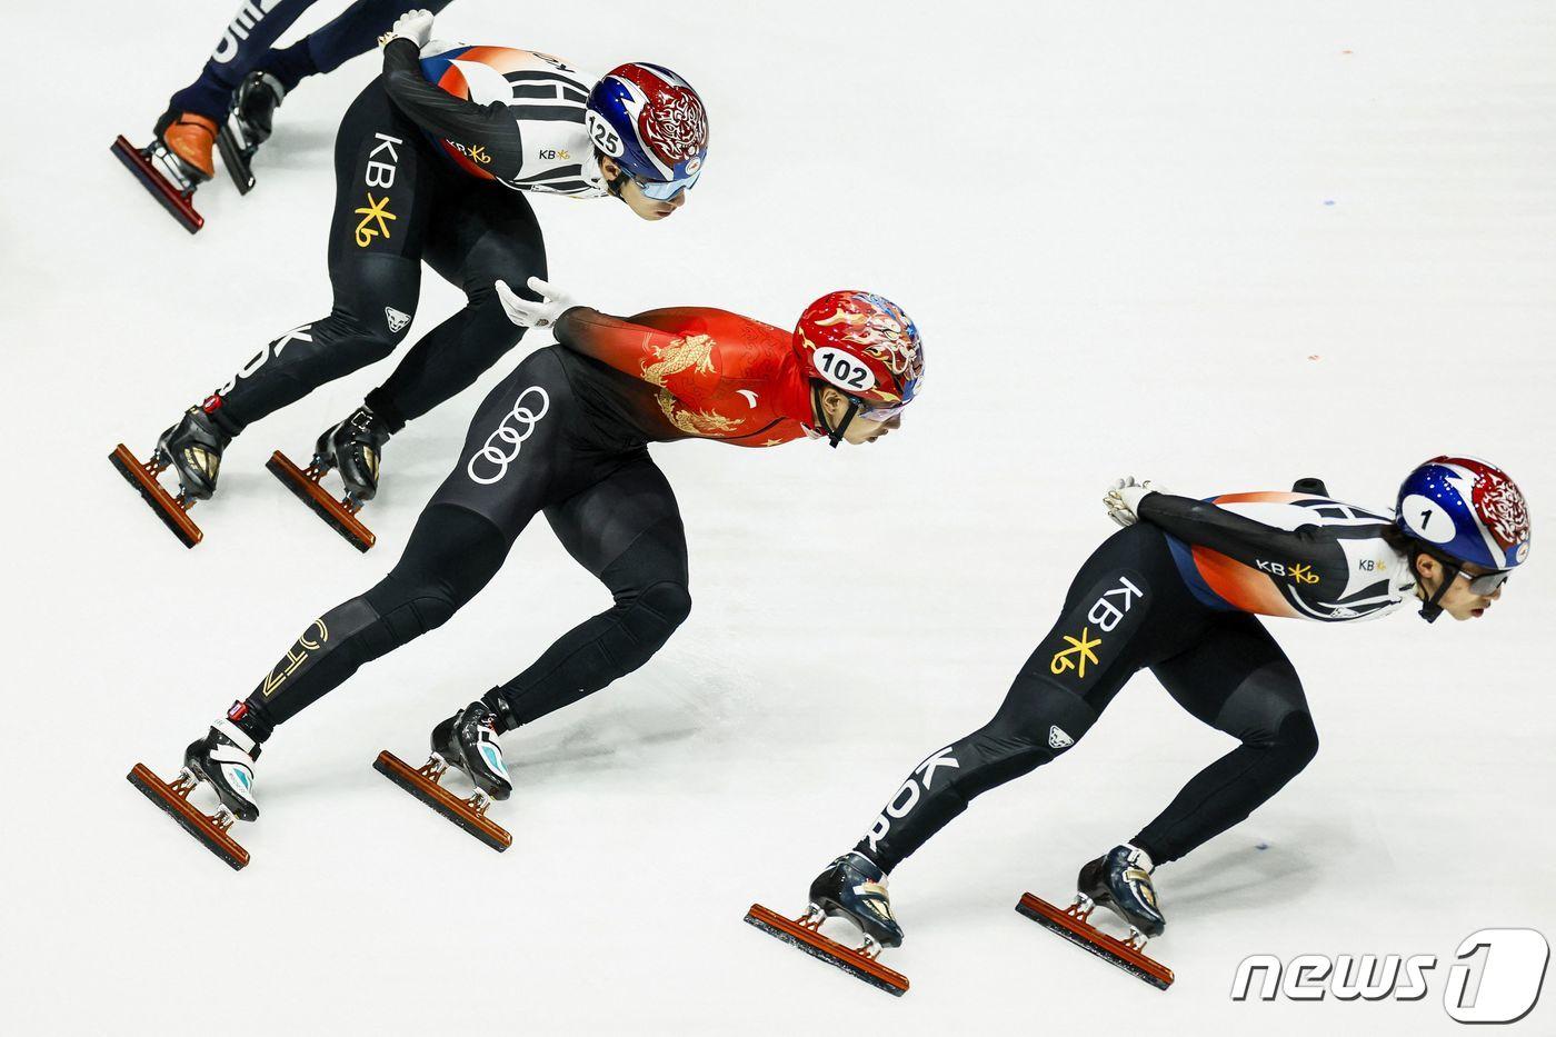
<instances>
[{"instance_id":1,"label":"rear leg of number 1 skater, with KB and KOR lettering","mask_svg":"<svg viewBox=\"0 0 1556 1037\"><path fill-rule=\"evenodd\" d=\"M994 719L918 765L854 849L890 872L974 796L1080 741L1141 666L1181 651L1201 617L1159 531L1114 534L1075 576Z\"/></svg>"}]
</instances>

